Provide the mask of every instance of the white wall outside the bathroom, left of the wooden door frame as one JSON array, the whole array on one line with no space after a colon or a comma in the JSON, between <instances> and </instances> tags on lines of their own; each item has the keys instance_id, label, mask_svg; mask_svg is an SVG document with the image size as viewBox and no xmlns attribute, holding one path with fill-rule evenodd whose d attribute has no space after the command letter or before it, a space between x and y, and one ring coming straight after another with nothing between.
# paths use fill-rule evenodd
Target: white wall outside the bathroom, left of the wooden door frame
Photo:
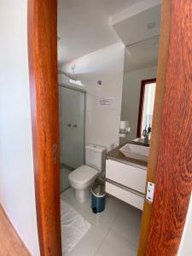
<instances>
[{"instance_id":1,"label":"white wall outside the bathroom, left of the wooden door frame","mask_svg":"<svg viewBox=\"0 0 192 256\"><path fill-rule=\"evenodd\" d=\"M0 203L38 256L27 65L27 1L0 4Z\"/></svg>"}]
</instances>

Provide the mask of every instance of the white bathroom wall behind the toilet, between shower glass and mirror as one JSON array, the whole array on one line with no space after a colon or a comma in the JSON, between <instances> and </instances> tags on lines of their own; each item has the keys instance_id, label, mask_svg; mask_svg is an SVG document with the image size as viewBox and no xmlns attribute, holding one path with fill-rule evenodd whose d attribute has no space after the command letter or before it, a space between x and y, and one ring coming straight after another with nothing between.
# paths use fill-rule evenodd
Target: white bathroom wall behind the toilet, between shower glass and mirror
<instances>
[{"instance_id":1,"label":"white bathroom wall behind the toilet, between shower glass and mirror","mask_svg":"<svg viewBox=\"0 0 192 256\"><path fill-rule=\"evenodd\" d=\"M87 90L86 143L100 144L108 149L113 143L119 145L124 55L124 44L112 44L61 67L71 73L75 64L76 78L84 84L82 89ZM102 85L97 84L98 80L102 80ZM60 75L60 82L67 83L67 80ZM99 98L105 96L113 98L112 108L99 105Z\"/></svg>"}]
</instances>

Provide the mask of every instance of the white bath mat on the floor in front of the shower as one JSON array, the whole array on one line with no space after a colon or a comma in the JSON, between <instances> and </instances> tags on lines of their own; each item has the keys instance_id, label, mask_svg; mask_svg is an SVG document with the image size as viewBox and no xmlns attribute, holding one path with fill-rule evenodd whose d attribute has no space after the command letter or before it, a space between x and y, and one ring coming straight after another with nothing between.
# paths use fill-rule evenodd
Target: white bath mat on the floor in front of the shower
<instances>
[{"instance_id":1,"label":"white bath mat on the floor in front of the shower","mask_svg":"<svg viewBox=\"0 0 192 256\"><path fill-rule=\"evenodd\" d=\"M61 200L62 254L69 253L89 229L90 223L66 201Z\"/></svg>"}]
</instances>

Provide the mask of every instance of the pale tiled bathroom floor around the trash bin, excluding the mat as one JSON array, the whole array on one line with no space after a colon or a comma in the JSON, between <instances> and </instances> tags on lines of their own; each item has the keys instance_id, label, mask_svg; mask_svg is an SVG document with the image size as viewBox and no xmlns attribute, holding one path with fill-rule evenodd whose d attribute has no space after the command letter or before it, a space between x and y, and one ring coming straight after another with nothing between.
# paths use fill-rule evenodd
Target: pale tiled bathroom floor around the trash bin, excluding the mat
<instances>
[{"instance_id":1,"label":"pale tiled bathroom floor around the trash bin, excluding the mat","mask_svg":"<svg viewBox=\"0 0 192 256\"><path fill-rule=\"evenodd\" d=\"M90 230L67 256L135 256L142 212L114 197L108 197L105 210L94 214L91 198L84 204L75 200L74 190L61 194L90 224Z\"/></svg>"}]
</instances>

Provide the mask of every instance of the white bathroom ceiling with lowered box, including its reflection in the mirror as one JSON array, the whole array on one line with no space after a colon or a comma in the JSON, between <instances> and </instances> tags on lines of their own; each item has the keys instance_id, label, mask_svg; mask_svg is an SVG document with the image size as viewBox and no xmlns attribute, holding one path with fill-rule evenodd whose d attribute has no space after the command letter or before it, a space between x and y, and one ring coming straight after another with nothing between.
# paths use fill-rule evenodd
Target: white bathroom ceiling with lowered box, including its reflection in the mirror
<instances>
[{"instance_id":1,"label":"white bathroom ceiling with lowered box, including its reflection in the mirror","mask_svg":"<svg viewBox=\"0 0 192 256\"><path fill-rule=\"evenodd\" d=\"M159 41L156 36L160 34L159 3L160 0L59 0L59 64L122 41L131 44L125 50L125 72L143 65L154 66ZM155 26L148 29L148 23L153 22ZM143 44L134 44L143 39Z\"/></svg>"}]
</instances>

